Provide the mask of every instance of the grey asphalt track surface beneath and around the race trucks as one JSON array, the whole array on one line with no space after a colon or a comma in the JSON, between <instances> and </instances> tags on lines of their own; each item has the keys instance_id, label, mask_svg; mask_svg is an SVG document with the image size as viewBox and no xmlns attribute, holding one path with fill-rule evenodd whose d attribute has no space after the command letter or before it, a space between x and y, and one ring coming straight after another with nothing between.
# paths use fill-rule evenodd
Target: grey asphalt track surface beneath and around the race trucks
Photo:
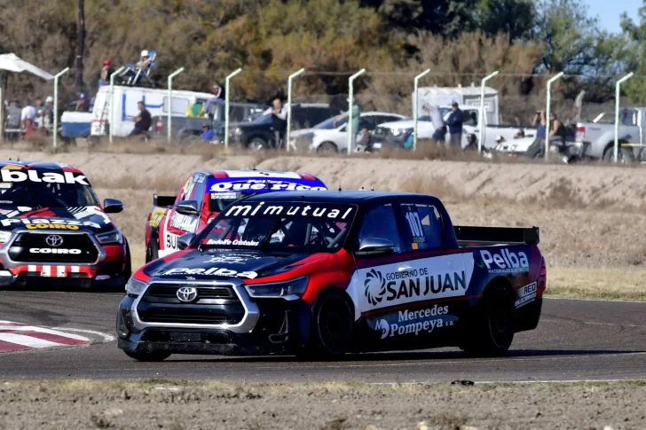
<instances>
[{"instance_id":1,"label":"grey asphalt track surface beneath and around the race trucks","mask_svg":"<svg viewBox=\"0 0 646 430\"><path fill-rule=\"evenodd\" d=\"M0 291L0 319L114 336L120 293ZM0 355L0 378L181 378L247 381L359 380L411 383L646 378L646 302L548 299L539 327L516 334L508 357L471 359L457 349L346 356L336 362L294 357L171 356L138 363L115 341ZM100 343L104 341L104 343Z\"/></svg>"}]
</instances>

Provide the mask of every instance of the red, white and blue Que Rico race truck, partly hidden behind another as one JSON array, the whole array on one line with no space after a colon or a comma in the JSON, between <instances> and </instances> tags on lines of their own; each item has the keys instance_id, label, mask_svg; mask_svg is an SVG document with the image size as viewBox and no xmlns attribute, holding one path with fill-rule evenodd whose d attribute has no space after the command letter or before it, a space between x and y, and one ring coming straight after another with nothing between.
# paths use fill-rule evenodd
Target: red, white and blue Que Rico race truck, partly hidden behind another
<instances>
[{"instance_id":1,"label":"red, white and blue Que Rico race truck, partly hidden behind another","mask_svg":"<svg viewBox=\"0 0 646 430\"><path fill-rule=\"evenodd\" d=\"M225 207L260 192L327 190L319 178L305 173L270 170L194 172L177 196L153 196L146 220L146 262L177 252L177 238L197 233Z\"/></svg>"}]
</instances>

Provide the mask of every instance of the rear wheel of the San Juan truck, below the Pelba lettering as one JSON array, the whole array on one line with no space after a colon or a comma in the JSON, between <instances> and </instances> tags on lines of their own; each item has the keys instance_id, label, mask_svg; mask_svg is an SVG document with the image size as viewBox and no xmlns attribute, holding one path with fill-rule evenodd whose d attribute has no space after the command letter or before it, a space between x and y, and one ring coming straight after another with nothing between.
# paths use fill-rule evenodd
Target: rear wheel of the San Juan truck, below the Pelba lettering
<instances>
[{"instance_id":1,"label":"rear wheel of the San Juan truck, below the Pelba lettering","mask_svg":"<svg viewBox=\"0 0 646 430\"><path fill-rule=\"evenodd\" d=\"M503 285L487 289L462 346L469 356L505 356L516 332L513 293Z\"/></svg>"}]
</instances>

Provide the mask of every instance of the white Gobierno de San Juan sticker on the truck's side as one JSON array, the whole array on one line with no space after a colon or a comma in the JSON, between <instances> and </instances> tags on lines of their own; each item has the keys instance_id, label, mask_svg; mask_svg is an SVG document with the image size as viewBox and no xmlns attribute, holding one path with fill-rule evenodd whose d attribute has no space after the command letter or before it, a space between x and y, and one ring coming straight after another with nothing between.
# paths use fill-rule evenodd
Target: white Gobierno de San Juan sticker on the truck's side
<instances>
[{"instance_id":1,"label":"white Gobierno de San Juan sticker on the truck's side","mask_svg":"<svg viewBox=\"0 0 646 430\"><path fill-rule=\"evenodd\" d=\"M466 295L472 254L442 255L358 270L358 305L361 311L388 308L416 301L433 301ZM457 263L465 259L465 264ZM452 269L452 266L454 269Z\"/></svg>"}]
</instances>

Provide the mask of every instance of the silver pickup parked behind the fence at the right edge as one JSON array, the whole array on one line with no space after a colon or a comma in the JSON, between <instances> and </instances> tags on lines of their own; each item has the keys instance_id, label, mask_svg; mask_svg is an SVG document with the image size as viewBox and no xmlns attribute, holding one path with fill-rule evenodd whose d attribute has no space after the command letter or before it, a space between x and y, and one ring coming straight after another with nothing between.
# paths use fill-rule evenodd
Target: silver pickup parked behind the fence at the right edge
<instances>
[{"instance_id":1,"label":"silver pickup parked behind the fence at the right edge","mask_svg":"<svg viewBox=\"0 0 646 430\"><path fill-rule=\"evenodd\" d=\"M644 112L646 107L625 107L619 112L619 148L621 161L642 161ZM576 141L586 144L587 158L613 160L615 152L615 113L604 112L592 122L578 122Z\"/></svg>"}]
</instances>

